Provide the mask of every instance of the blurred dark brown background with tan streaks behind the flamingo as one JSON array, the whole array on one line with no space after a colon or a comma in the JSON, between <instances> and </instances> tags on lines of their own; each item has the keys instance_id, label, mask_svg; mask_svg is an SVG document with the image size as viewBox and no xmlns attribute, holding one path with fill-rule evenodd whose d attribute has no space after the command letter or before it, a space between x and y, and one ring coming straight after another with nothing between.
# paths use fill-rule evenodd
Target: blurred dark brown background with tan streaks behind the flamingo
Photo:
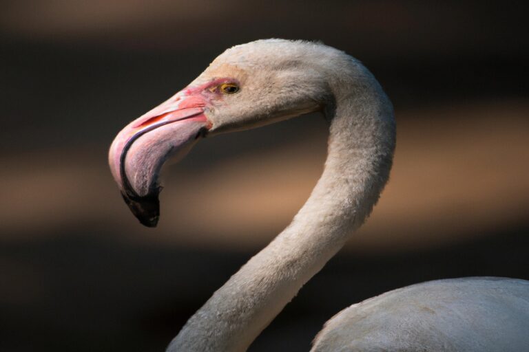
<instances>
[{"instance_id":1,"label":"blurred dark brown background with tan streaks behind the flamingo","mask_svg":"<svg viewBox=\"0 0 529 352\"><path fill-rule=\"evenodd\" d=\"M529 41L516 1L0 3L0 351L163 351L291 221L326 153L305 115L200 142L141 226L107 168L127 122L227 47L323 41L395 105L373 215L250 351L308 351L340 309L435 278L529 279Z\"/></svg>"}]
</instances>

